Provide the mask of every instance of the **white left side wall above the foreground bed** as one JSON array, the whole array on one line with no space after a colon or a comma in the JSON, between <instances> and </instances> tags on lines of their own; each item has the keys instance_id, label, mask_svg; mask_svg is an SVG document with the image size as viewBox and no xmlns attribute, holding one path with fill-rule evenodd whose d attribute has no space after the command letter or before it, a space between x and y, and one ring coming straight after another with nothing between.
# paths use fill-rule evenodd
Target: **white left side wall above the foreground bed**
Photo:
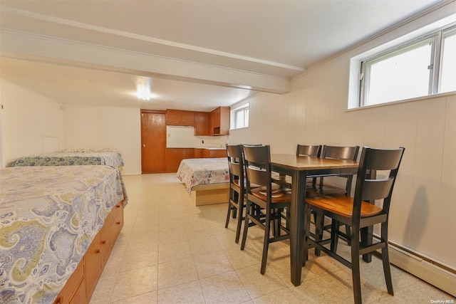
<instances>
[{"instance_id":1,"label":"white left side wall above the foreground bed","mask_svg":"<svg viewBox=\"0 0 456 304\"><path fill-rule=\"evenodd\" d=\"M61 104L0 79L1 166L17 157L58 150L63 145Z\"/></svg>"}]
</instances>

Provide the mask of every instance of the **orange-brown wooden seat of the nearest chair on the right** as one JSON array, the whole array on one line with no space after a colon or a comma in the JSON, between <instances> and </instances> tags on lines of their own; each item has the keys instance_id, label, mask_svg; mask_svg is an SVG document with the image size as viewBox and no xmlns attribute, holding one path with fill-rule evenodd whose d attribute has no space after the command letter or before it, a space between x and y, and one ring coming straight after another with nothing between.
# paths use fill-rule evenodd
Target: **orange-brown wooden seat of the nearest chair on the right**
<instances>
[{"instance_id":1,"label":"orange-brown wooden seat of the nearest chair on the right","mask_svg":"<svg viewBox=\"0 0 456 304\"><path fill-rule=\"evenodd\" d=\"M353 216L353 197L340 196L340 197L326 197L314 196L306 199L307 204L316 206L325 211L333 214L339 214L351 218ZM361 217L368 217L380 214L382 209L366 201L361 203Z\"/></svg>"}]
</instances>

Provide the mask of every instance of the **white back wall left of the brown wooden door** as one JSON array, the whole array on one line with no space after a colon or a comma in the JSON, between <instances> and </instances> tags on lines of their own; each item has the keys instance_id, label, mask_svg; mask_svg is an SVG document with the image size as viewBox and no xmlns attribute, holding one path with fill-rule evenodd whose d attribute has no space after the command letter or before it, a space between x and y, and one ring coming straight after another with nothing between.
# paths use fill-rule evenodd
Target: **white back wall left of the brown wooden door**
<instances>
[{"instance_id":1,"label":"white back wall left of the brown wooden door","mask_svg":"<svg viewBox=\"0 0 456 304\"><path fill-rule=\"evenodd\" d=\"M63 130L66 149L117 149L123 174L141 174L140 109L64 105Z\"/></svg>"}]
</instances>

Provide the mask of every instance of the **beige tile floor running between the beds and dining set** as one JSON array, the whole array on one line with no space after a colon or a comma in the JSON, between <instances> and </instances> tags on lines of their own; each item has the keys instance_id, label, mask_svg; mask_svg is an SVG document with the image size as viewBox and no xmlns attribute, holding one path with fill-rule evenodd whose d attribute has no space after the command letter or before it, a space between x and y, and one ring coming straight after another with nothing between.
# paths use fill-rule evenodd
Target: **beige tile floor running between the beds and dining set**
<instances>
[{"instance_id":1,"label":"beige tile floor running between the beds and dining set","mask_svg":"<svg viewBox=\"0 0 456 304\"><path fill-rule=\"evenodd\" d=\"M235 221L224 228L227 204L193 206L175 174L124 179L130 197L125 226L90 303L353 303L349 269L323 253L310 252L303 283L294 287L289 246L273 243L261 276L263 231L249 229L241 251ZM375 257L361 263L361 271L363 303L455 300L394 266L395 295L388 295Z\"/></svg>"}]
</instances>

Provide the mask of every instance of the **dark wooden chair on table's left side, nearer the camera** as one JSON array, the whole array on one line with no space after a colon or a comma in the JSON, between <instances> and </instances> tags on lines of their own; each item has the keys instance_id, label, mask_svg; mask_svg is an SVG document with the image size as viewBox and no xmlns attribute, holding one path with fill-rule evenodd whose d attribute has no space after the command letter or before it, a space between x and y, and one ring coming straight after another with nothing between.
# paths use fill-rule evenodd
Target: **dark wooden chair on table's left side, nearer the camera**
<instances>
[{"instance_id":1,"label":"dark wooden chair on table's left side, nearer the camera","mask_svg":"<svg viewBox=\"0 0 456 304\"><path fill-rule=\"evenodd\" d=\"M247 182L246 215L242 234L241 250L244 250L247 232L251 226L264 230L261 274L266 272L269 243L289 239L289 229L281 221L281 212L289 209L291 196L284 188L274 189L271 179L271 151L269 145L244 146L244 168ZM252 188L252 184L258 188ZM272 224L272 226L271 226ZM271 228L274 228L271 234ZM285 234L282 234L284 232Z\"/></svg>"}]
</instances>

